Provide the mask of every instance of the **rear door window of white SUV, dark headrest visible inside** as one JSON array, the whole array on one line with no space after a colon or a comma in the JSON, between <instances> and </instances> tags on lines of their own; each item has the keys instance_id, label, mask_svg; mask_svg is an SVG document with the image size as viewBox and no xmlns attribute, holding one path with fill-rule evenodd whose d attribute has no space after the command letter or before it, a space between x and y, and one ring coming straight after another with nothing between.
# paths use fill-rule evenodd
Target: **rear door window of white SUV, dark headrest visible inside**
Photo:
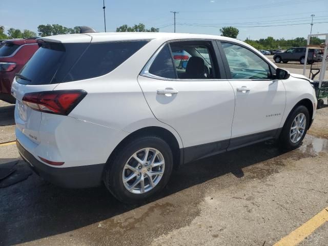
<instances>
[{"instance_id":1,"label":"rear door window of white SUV, dark headrest visible inside","mask_svg":"<svg viewBox=\"0 0 328 246\"><path fill-rule=\"evenodd\" d=\"M170 43L177 76L180 79L217 78L211 42L182 41Z\"/></svg>"}]
</instances>

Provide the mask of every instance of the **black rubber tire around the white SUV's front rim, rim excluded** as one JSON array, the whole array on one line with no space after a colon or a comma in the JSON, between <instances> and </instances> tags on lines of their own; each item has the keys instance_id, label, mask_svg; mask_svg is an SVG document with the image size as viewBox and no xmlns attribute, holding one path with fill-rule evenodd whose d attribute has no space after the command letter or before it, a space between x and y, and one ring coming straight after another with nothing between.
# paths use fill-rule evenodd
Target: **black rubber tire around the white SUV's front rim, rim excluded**
<instances>
[{"instance_id":1,"label":"black rubber tire around the white SUV's front rim, rim excluded","mask_svg":"<svg viewBox=\"0 0 328 246\"><path fill-rule=\"evenodd\" d=\"M305 115L305 118L306 118L304 133L303 133L302 137L297 142L292 142L292 140L290 139L291 127L292 127L292 124L293 124L293 121L294 121L295 117L300 113L303 113ZM281 131L280 137L279 137L280 146L283 149L286 149L286 150L293 150L293 149L298 148L300 146L303 138L305 137L306 132L308 131L309 124L310 124L309 110L303 105L297 106L290 113L290 115L286 119L285 124L282 128L282 131Z\"/></svg>"}]
</instances>

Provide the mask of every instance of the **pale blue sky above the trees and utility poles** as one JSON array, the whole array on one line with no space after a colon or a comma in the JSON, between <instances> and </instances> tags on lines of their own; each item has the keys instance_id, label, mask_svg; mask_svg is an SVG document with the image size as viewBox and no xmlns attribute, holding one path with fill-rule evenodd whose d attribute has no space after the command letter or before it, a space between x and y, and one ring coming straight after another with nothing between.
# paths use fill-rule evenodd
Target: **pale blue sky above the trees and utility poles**
<instances>
[{"instance_id":1,"label":"pale blue sky above the trees and utility poles","mask_svg":"<svg viewBox=\"0 0 328 246\"><path fill-rule=\"evenodd\" d=\"M0 25L6 31L13 27L38 33L37 26L42 24L89 26L104 31L103 0L8 3L0 0ZM108 32L139 23L160 32L174 32L170 11L177 11L176 32L219 35L221 27L234 26L241 40L307 37L311 14L315 14L312 33L328 33L328 0L105 0L105 6Z\"/></svg>"}]
</instances>

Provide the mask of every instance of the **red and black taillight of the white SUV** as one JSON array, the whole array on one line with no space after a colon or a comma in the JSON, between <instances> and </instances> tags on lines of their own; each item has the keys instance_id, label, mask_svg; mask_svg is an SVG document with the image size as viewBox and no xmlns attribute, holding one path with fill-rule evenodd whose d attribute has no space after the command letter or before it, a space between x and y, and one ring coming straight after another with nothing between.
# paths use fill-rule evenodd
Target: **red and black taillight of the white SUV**
<instances>
[{"instance_id":1,"label":"red and black taillight of the white SUV","mask_svg":"<svg viewBox=\"0 0 328 246\"><path fill-rule=\"evenodd\" d=\"M68 115L86 95L83 90L32 92L24 95L23 103L36 111Z\"/></svg>"}]
</instances>

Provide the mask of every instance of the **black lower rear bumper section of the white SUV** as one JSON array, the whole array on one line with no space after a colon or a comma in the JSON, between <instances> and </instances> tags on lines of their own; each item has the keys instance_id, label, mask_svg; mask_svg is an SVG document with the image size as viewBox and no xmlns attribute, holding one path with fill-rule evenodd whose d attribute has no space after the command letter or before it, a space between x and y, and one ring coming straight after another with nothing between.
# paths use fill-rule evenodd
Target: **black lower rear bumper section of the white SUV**
<instances>
[{"instance_id":1,"label":"black lower rear bumper section of the white SUV","mask_svg":"<svg viewBox=\"0 0 328 246\"><path fill-rule=\"evenodd\" d=\"M18 140L16 144L20 156L29 164L31 169L54 185L64 188L90 188L99 186L103 180L105 163L80 167L54 168L37 160L20 145Z\"/></svg>"}]
</instances>

